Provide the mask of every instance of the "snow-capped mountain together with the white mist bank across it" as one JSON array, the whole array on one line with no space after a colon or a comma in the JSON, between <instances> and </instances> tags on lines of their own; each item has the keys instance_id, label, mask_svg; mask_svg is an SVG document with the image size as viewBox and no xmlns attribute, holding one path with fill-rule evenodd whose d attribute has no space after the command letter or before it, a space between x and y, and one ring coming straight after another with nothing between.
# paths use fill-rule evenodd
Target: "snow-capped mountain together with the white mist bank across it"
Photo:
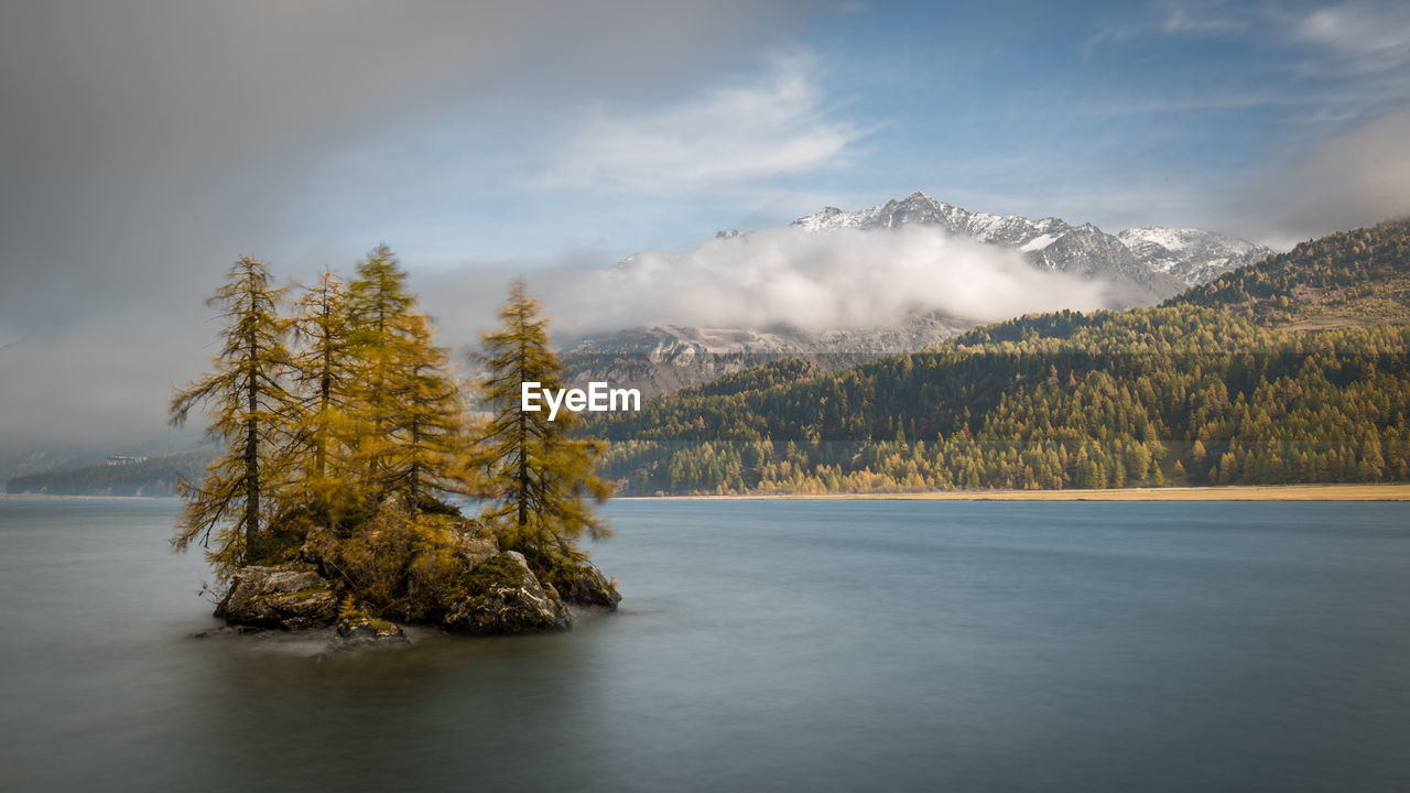
<instances>
[{"instance_id":1,"label":"snow-capped mountain together with the white mist bank across it","mask_svg":"<svg viewBox=\"0 0 1410 793\"><path fill-rule=\"evenodd\" d=\"M588 334L567 360L578 381L661 394L773 357L846 365L1024 313L1155 305L1270 253L1198 229L1108 234L916 192L629 257L574 284L577 299L613 293L619 323L671 319ZM548 299L557 303L551 291Z\"/></svg>"}]
</instances>

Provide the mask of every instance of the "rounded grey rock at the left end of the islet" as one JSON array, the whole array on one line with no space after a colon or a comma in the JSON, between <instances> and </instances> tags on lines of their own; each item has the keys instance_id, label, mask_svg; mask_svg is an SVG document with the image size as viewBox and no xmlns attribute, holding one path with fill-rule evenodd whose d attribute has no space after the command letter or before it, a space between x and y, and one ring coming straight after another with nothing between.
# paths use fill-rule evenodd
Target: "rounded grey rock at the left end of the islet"
<instances>
[{"instance_id":1,"label":"rounded grey rock at the left end of the islet","mask_svg":"<svg viewBox=\"0 0 1410 793\"><path fill-rule=\"evenodd\" d=\"M278 567L241 567L216 617L231 625L305 631L331 625L338 598L310 567L293 562Z\"/></svg>"}]
</instances>

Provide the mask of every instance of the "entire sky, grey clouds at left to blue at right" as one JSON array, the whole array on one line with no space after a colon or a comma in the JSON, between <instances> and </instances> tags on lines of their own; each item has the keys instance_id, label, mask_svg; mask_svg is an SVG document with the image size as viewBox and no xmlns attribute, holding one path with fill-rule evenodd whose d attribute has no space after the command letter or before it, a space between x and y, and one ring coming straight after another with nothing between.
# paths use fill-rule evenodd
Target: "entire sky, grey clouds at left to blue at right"
<instances>
[{"instance_id":1,"label":"entire sky, grey clouds at left to blue at right","mask_svg":"<svg viewBox=\"0 0 1410 793\"><path fill-rule=\"evenodd\" d=\"M240 254L388 243L455 344L513 274L914 190L1286 248L1410 213L1406 75L1394 1L4 3L0 452L161 426Z\"/></svg>"}]
</instances>

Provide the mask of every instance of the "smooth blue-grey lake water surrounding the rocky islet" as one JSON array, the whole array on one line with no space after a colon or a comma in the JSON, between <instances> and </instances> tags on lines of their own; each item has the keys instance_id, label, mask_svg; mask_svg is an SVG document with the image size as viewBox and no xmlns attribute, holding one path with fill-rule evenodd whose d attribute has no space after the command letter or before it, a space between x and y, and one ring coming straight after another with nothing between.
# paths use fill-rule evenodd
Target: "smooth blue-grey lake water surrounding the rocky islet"
<instances>
[{"instance_id":1,"label":"smooth blue-grey lake water surrounding the rocky islet","mask_svg":"<svg viewBox=\"0 0 1410 793\"><path fill-rule=\"evenodd\" d=\"M0 501L0 789L1410 790L1410 505L615 502L567 634L319 662Z\"/></svg>"}]
</instances>

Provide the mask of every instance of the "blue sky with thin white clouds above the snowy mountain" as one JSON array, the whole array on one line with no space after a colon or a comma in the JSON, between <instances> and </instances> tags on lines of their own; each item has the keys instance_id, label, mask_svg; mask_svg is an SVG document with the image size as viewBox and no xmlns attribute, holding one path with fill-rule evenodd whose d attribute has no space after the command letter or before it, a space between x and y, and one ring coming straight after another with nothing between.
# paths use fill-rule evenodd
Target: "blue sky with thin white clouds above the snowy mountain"
<instances>
[{"instance_id":1,"label":"blue sky with thin white clouds above the snowy mountain","mask_svg":"<svg viewBox=\"0 0 1410 793\"><path fill-rule=\"evenodd\" d=\"M337 141L307 183L310 238L379 222L426 267L533 267L925 190L1280 244L1347 219L1304 230L1251 196L1410 102L1403 4L878 3L766 23L658 80L512 76ZM396 198L345 200L360 179Z\"/></svg>"}]
</instances>

